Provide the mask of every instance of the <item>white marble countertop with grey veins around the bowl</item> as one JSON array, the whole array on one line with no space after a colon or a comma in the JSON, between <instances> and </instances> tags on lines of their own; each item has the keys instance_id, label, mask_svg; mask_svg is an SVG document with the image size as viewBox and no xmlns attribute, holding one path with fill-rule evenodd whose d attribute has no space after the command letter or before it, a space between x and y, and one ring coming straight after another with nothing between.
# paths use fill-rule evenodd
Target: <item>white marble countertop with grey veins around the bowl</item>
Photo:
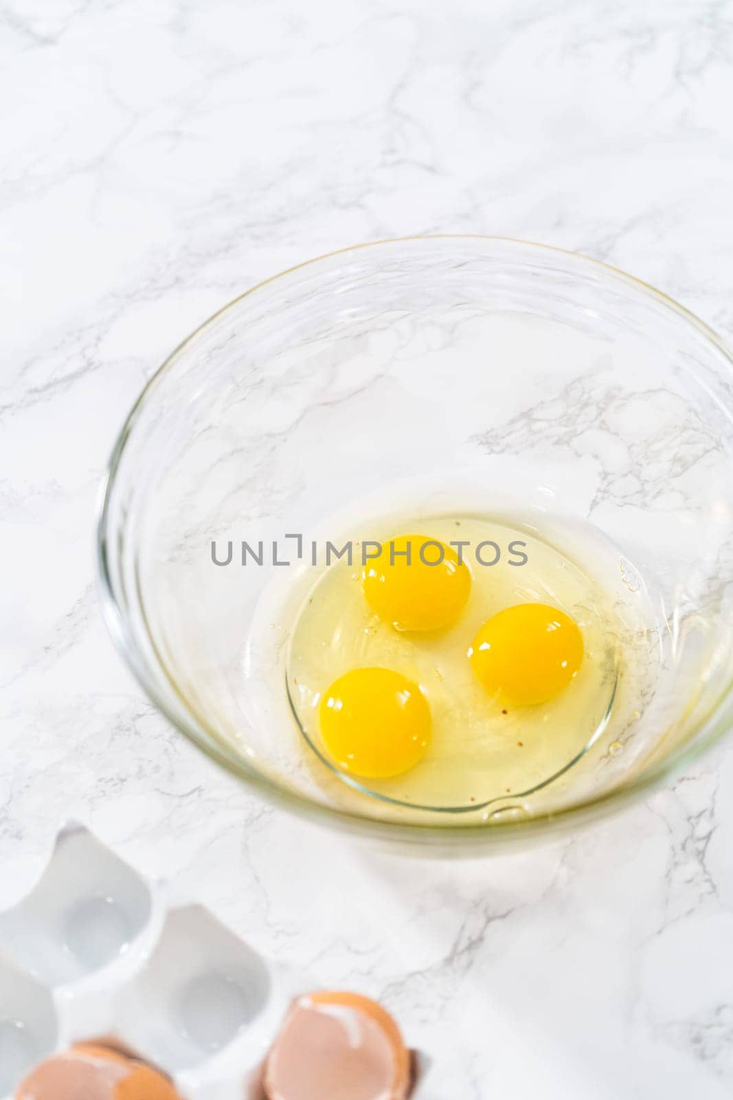
<instances>
[{"instance_id":1,"label":"white marble countertop with grey veins around the bowl","mask_svg":"<svg viewBox=\"0 0 733 1100\"><path fill-rule=\"evenodd\" d=\"M93 521L165 353L351 243L577 249L732 338L733 2L9 0L0 85L0 906L76 816L316 983L382 998L436 1098L729 1097L733 743L521 856L333 837L143 698Z\"/></svg>"}]
</instances>

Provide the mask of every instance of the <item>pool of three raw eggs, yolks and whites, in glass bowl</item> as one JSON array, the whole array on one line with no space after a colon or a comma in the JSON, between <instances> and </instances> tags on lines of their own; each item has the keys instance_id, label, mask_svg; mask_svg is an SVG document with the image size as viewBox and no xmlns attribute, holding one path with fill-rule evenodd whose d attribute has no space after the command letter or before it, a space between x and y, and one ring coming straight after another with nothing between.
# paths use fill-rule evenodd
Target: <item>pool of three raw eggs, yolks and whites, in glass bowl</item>
<instances>
[{"instance_id":1,"label":"pool of three raw eggs, yolks and whites, in glass bowl","mask_svg":"<svg viewBox=\"0 0 733 1100\"><path fill-rule=\"evenodd\" d=\"M300 732L349 785L385 802L481 821L492 803L524 807L611 728L630 663L618 594L509 520L400 527L425 534L332 563L285 626ZM518 544L521 557L506 552Z\"/></svg>"}]
</instances>

